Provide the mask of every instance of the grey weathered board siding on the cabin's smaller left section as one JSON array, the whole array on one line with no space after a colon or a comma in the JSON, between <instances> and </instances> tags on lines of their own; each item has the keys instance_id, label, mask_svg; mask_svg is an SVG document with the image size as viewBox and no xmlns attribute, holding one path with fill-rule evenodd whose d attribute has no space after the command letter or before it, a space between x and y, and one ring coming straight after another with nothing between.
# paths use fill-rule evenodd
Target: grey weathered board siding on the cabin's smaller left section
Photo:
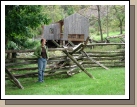
<instances>
[{"instance_id":1,"label":"grey weathered board siding on the cabin's smaller left section","mask_svg":"<svg viewBox=\"0 0 137 107\"><path fill-rule=\"evenodd\" d=\"M53 33L50 32L50 29L53 29ZM44 38L46 40L59 40L59 37L60 37L59 23L44 26Z\"/></svg>"}]
</instances>

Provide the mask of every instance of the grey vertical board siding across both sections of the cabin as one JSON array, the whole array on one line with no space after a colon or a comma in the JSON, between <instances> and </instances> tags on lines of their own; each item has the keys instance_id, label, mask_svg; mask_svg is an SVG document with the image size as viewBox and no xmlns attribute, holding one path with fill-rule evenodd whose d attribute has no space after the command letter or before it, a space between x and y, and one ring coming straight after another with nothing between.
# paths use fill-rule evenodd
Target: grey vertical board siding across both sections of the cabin
<instances>
[{"instance_id":1,"label":"grey vertical board siding across both sections of the cabin","mask_svg":"<svg viewBox=\"0 0 137 107\"><path fill-rule=\"evenodd\" d=\"M53 34L50 33L52 28ZM75 13L64 19L64 31L61 38L60 23L44 26L44 38L47 40L68 40L68 34L82 34L84 40L89 36L89 20L88 18Z\"/></svg>"}]
</instances>

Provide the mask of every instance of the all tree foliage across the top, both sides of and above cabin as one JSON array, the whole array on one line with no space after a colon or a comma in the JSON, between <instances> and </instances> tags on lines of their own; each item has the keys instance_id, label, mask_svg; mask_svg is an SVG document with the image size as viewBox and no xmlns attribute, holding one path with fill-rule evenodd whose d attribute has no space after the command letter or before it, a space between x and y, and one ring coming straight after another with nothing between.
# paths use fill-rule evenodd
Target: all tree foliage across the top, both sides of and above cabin
<instances>
[{"instance_id":1,"label":"all tree foliage across the top, both sides of and above cabin","mask_svg":"<svg viewBox=\"0 0 137 107\"><path fill-rule=\"evenodd\" d=\"M90 29L89 33L92 36L99 38L99 24L97 18L97 10L93 6L89 5L6 5L5 6L5 35L6 39L13 41L18 46L29 46L27 45L29 38L42 34L42 25L51 24L57 22L65 17L84 10L82 13L84 16L89 17ZM104 6L106 8L106 6ZM101 12L101 25L103 37L106 37L107 31L107 15L106 11L101 11L103 6L100 8ZM119 31L120 22L124 30L125 26L125 7L124 5L108 6L108 30L109 35L111 32ZM119 34L119 33L118 33ZM25 43L26 42L26 43Z\"/></svg>"}]
</instances>

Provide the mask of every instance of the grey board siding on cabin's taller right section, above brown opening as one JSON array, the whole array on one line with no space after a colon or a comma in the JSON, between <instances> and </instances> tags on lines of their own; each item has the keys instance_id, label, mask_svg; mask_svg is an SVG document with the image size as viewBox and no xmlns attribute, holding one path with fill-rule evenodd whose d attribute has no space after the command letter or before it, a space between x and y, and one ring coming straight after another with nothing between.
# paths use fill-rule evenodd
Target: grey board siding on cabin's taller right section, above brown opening
<instances>
[{"instance_id":1,"label":"grey board siding on cabin's taller right section, above brown opening","mask_svg":"<svg viewBox=\"0 0 137 107\"><path fill-rule=\"evenodd\" d=\"M64 19L64 40L68 40L68 34L84 34L84 40L89 36L89 20L80 15L73 14Z\"/></svg>"}]
</instances>

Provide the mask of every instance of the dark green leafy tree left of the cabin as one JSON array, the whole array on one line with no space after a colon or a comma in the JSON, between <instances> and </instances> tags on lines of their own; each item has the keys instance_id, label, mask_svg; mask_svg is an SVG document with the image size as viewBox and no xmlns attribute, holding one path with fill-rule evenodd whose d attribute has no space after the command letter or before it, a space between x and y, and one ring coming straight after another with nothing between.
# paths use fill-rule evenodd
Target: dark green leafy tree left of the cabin
<instances>
[{"instance_id":1,"label":"dark green leafy tree left of the cabin","mask_svg":"<svg viewBox=\"0 0 137 107\"><path fill-rule=\"evenodd\" d=\"M6 5L6 44L13 41L23 45L28 38L37 35L37 27L50 22L43 11L43 6L40 5Z\"/></svg>"}]
</instances>

